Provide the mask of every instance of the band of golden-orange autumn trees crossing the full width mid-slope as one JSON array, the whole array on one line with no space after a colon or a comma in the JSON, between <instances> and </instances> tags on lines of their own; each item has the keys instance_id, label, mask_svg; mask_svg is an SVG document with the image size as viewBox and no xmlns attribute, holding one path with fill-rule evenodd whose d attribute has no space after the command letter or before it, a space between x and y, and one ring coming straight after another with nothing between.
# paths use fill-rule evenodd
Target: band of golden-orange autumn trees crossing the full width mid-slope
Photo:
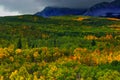
<instances>
[{"instance_id":1,"label":"band of golden-orange autumn trees crossing the full width mid-slope","mask_svg":"<svg viewBox=\"0 0 120 80\"><path fill-rule=\"evenodd\" d=\"M39 53L38 51L42 50L41 53ZM49 49L47 47L42 47L41 49L36 48L30 51L30 54L32 54L32 56L35 59L39 59L41 56L43 56L43 58L46 57L50 57L53 56L53 58L59 58L64 55L64 52L61 52L60 49L58 48L54 48L53 49L54 53L49 52ZM9 60L11 62L15 61L14 56L10 54L14 54L13 49L9 49L9 48L0 48L0 59L5 59L5 58L9 58ZM17 56L19 56L18 54L23 53L26 50L22 50L22 49L16 49L15 50L15 54ZM31 59L30 54L27 54L25 56L25 58L27 60ZM41 54L41 55L40 55ZM111 63L112 61L120 61L120 53L118 52L114 52L114 51L100 51L100 50L94 50L93 52L88 51L86 48L75 48L73 50L73 54L66 57L66 60L76 60L76 61L83 61L83 62L87 62L87 61L93 61L93 63L95 63L96 65L101 64L101 63ZM44 60L43 60L44 61Z\"/></svg>"}]
</instances>

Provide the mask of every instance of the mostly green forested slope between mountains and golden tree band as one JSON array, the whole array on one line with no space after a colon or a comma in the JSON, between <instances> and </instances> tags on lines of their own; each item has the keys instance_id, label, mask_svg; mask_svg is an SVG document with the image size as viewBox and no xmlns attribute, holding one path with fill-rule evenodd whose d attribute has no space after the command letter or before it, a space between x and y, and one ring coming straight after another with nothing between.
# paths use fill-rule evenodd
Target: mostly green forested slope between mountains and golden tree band
<instances>
[{"instance_id":1,"label":"mostly green forested slope between mountains and golden tree band","mask_svg":"<svg viewBox=\"0 0 120 80\"><path fill-rule=\"evenodd\" d=\"M101 38L112 35L114 38L119 37L119 30L110 28L110 26L117 26L120 21L93 17L79 21L78 18L79 16L64 16L45 19L31 15L2 17L0 18L0 47L8 47L13 44L17 48L17 42L20 39L23 49L43 46L88 48L91 40L85 39L85 36L93 35ZM88 45L81 45L83 42ZM96 40L96 42L101 41Z\"/></svg>"}]
</instances>

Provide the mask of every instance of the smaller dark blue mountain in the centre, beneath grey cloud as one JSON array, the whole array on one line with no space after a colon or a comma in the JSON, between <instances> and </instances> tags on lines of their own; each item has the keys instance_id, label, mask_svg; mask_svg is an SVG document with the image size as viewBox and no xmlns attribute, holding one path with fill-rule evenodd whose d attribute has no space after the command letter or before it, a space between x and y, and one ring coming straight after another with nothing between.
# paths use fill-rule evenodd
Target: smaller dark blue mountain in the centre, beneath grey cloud
<instances>
[{"instance_id":1,"label":"smaller dark blue mountain in the centre, beneath grey cloud","mask_svg":"<svg viewBox=\"0 0 120 80\"><path fill-rule=\"evenodd\" d=\"M86 9L46 7L43 11L38 12L35 15L43 16L43 17L63 16L63 15L82 15L85 11Z\"/></svg>"}]
</instances>

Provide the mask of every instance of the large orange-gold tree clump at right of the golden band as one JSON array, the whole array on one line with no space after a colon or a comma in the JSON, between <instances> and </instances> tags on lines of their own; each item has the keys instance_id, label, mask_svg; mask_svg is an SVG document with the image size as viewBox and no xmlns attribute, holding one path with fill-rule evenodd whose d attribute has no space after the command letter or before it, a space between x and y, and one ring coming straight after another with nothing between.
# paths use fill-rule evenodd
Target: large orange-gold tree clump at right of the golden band
<instances>
[{"instance_id":1,"label":"large orange-gold tree clump at right of the golden band","mask_svg":"<svg viewBox=\"0 0 120 80\"><path fill-rule=\"evenodd\" d=\"M82 62L88 64L88 62L94 63L94 65L102 63L111 63L112 61L120 61L120 55L116 52L103 53L100 50L94 50L93 52L87 52L85 48L76 48L74 51L74 56L71 56L72 60L81 60Z\"/></svg>"}]
</instances>

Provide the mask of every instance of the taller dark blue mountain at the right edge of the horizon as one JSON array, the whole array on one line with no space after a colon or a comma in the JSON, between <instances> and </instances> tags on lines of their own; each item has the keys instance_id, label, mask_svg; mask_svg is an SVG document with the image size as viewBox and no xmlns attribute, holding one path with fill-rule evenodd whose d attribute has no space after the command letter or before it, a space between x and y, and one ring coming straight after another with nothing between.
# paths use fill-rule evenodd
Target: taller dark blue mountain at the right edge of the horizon
<instances>
[{"instance_id":1,"label":"taller dark blue mountain at the right edge of the horizon","mask_svg":"<svg viewBox=\"0 0 120 80\"><path fill-rule=\"evenodd\" d=\"M94 5L84 15L88 16L107 16L107 17L119 17L120 15L120 1L115 0L113 2L102 2Z\"/></svg>"}]
</instances>

